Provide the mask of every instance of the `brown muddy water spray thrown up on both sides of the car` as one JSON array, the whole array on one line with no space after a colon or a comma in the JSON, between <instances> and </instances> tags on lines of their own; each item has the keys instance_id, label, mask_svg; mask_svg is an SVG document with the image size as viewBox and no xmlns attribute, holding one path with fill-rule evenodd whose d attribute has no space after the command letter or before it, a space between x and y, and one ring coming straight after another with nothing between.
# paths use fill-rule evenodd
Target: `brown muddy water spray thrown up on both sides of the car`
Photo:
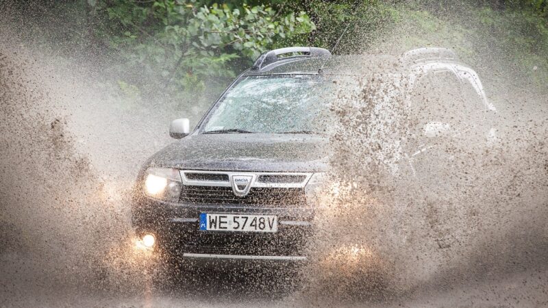
<instances>
[{"instance_id":1,"label":"brown muddy water spray thrown up on both sides of the car","mask_svg":"<svg viewBox=\"0 0 548 308\"><path fill-rule=\"evenodd\" d=\"M497 69L505 63L480 72L498 110L497 143L441 142L462 168L417 180L398 163L395 140L412 124L393 120L400 85L379 60L377 74L341 86L332 103L323 231L297 291L234 297L238 287L206 284L165 294L152 281L158 260L134 249L127 194L140 164L169 143L173 110L116 107L95 63L38 51L12 26L0 36L3 305L548 305L548 89L512 86ZM375 52L401 54L394 46L408 35L385 33Z\"/></svg>"}]
</instances>

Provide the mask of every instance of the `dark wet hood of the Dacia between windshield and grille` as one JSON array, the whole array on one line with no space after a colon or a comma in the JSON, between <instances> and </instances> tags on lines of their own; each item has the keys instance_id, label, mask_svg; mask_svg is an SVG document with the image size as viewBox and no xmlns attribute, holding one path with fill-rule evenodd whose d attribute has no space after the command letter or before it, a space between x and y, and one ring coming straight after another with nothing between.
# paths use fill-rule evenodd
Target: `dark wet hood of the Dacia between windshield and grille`
<instances>
[{"instance_id":1,"label":"dark wet hood of the Dacia between windshield and grille","mask_svg":"<svg viewBox=\"0 0 548 308\"><path fill-rule=\"evenodd\" d=\"M327 138L305 134L194 134L173 142L148 166L187 170L315 172L327 168Z\"/></svg>"}]
</instances>

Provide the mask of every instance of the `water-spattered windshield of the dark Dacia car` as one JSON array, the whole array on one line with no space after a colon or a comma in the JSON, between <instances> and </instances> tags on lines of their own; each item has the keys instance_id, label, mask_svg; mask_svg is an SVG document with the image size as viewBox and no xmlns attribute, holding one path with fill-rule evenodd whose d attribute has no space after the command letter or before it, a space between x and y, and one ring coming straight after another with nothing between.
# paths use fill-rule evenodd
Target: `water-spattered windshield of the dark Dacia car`
<instances>
[{"instance_id":1,"label":"water-spattered windshield of the dark Dacia car","mask_svg":"<svg viewBox=\"0 0 548 308\"><path fill-rule=\"evenodd\" d=\"M212 110L203 133L323 133L329 88L317 75L245 77Z\"/></svg>"}]
</instances>

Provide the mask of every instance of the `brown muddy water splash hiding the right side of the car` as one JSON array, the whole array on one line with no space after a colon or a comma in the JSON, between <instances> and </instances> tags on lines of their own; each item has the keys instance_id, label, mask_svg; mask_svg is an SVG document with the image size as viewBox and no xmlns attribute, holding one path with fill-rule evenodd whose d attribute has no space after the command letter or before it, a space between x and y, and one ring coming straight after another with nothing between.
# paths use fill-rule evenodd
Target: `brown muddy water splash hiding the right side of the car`
<instances>
[{"instance_id":1,"label":"brown muddy water splash hiding the right side of the car","mask_svg":"<svg viewBox=\"0 0 548 308\"><path fill-rule=\"evenodd\" d=\"M451 80L438 75L416 87L409 105L397 95L406 85L388 71L382 64L368 68L360 86L341 87L332 107L339 123L330 140L330 185L319 197L327 210L318 218L318 259L310 271L310 291L321 298L316 303L385 300L432 283L444 290L479 277L501 281L524 268L545 271L545 107L530 106L540 107L539 117L500 105L485 123L481 101L479 118L458 110L477 95L459 102L462 92ZM421 102L428 106L413 118L413 105ZM431 107L445 102L451 107ZM418 123L449 112L450 123L465 134L416 142ZM420 153L425 157L410 159L423 142L430 145Z\"/></svg>"}]
</instances>

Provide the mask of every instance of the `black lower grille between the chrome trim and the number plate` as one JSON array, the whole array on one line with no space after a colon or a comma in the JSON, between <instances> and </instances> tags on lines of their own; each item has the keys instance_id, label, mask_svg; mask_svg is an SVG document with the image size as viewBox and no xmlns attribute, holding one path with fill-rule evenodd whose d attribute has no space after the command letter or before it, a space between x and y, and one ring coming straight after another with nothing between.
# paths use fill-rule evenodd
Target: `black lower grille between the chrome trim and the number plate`
<instances>
[{"instance_id":1,"label":"black lower grille between the chrome trim and the number plate","mask_svg":"<svg viewBox=\"0 0 548 308\"><path fill-rule=\"evenodd\" d=\"M240 197L229 187L183 185L179 201L191 204L301 207L306 205L306 196L304 188L251 188L247 196Z\"/></svg>"}]
</instances>

